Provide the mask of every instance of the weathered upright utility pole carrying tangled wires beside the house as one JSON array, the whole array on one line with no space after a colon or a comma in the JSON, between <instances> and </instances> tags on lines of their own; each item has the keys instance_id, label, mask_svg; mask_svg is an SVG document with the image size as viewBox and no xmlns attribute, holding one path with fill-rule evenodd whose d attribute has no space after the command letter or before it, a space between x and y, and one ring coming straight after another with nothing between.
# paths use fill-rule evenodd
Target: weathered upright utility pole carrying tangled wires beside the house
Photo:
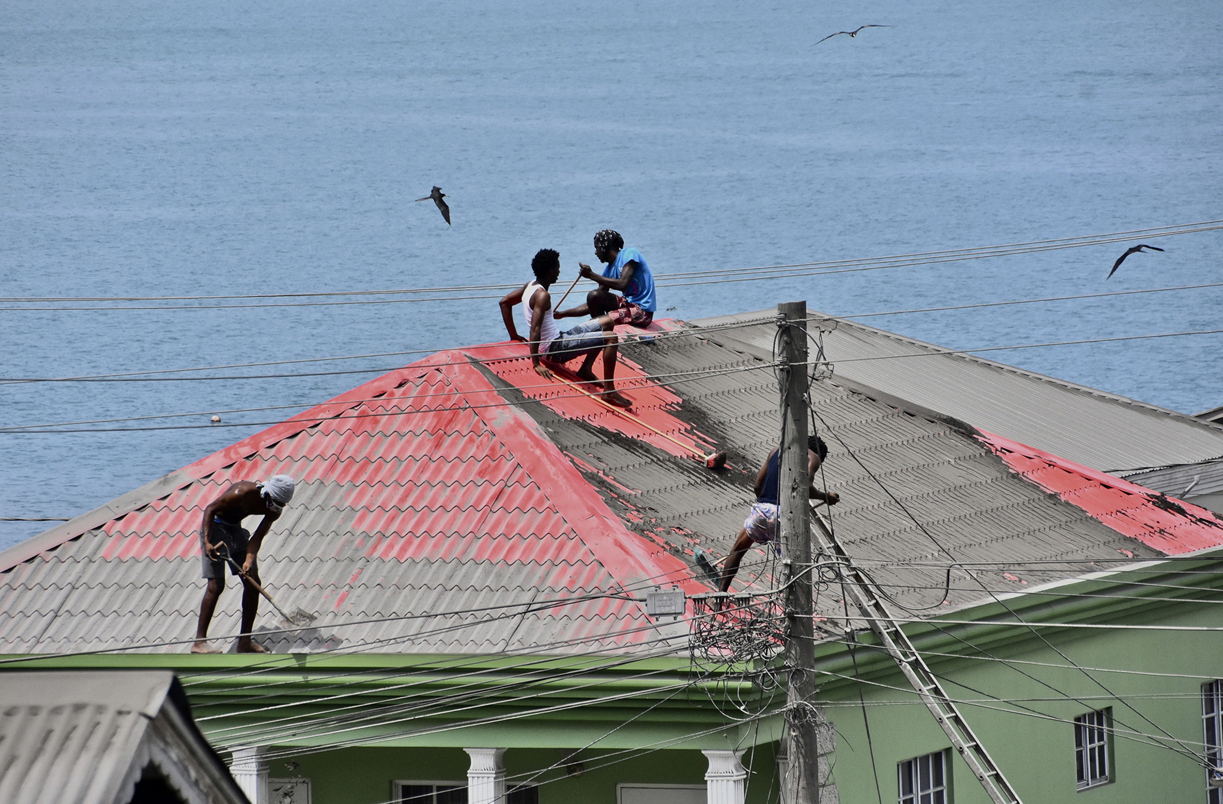
<instances>
[{"instance_id":1,"label":"weathered upright utility pole carrying tangled wires beside the house","mask_svg":"<svg viewBox=\"0 0 1223 804\"><path fill-rule=\"evenodd\" d=\"M811 503L807 492L807 303L777 305L780 320L781 453L778 458L778 529L785 567L786 773L781 800L819 803L816 745L815 623L811 604Z\"/></svg>"}]
</instances>

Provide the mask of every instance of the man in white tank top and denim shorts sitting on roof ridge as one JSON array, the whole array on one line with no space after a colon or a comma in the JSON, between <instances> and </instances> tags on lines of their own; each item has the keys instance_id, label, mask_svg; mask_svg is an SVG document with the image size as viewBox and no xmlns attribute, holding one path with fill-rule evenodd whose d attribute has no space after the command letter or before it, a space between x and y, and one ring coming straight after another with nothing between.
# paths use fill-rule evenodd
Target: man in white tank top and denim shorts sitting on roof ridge
<instances>
[{"instance_id":1,"label":"man in white tank top and denim shorts sitting on roof ridge","mask_svg":"<svg viewBox=\"0 0 1223 804\"><path fill-rule=\"evenodd\" d=\"M607 402L627 408L632 403L615 390L618 338L612 316L600 315L561 332L560 327L556 326L558 318L583 315L585 313L576 309L552 309L552 294L548 288L560 277L560 254L550 248L539 249L534 259L531 260L531 270L534 271L534 281L506 293L500 302L501 320L505 321L505 331L510 334L510 340L521 341L531 347L531 363L534 365L536 374L549 380L553 376L552 370L541 360L564 364L576 357L582 357L577 376L600 386L603 389L600 396ZM514 325L515 304L522 304L522 316L531 329L530 338L519 335L519 330ZM602 380L594 376L593 371L594 358L599 353L603 354Z\"/></svg>"}]
</instances>

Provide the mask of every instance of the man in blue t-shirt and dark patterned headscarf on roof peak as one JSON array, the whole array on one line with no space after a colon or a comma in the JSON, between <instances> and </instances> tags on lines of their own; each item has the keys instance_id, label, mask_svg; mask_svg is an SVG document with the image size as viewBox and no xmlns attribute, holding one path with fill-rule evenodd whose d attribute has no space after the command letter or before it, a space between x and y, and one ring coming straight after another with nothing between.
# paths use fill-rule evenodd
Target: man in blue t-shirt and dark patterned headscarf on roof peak
<instances>
[{"instance_id":1,"label":"man in blue t-shirt and dark patterned headscarf on roof peak","mask_svg":"<svg viewBox=\"0 0 1223 804\"><path fill-rule=\"evenodd\" d=\"M594 236L594 255L607 263L603 276L578 263L581 275L598 283L586 294L586 309L575 308L570 315L587 313L592 316L610 315L615 324L632 324L645 329L654 320L658 302L654 299L654 275L646 258L636 248L625 248L620 232L604 228ZM612 291L620 291L616 296Z\"/></svg>"}]
</instances>

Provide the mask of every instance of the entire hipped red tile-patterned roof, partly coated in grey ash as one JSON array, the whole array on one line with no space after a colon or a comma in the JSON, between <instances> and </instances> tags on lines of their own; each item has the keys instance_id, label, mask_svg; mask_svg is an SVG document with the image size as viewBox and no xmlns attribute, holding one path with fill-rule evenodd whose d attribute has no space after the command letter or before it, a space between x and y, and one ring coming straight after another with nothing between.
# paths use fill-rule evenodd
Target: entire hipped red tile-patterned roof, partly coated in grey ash
<instances>
[{"instance_id":1,"label":"entire hipped red tile-patterned roof, partly coated in grey ash","mask_svg":"<svg viewBox=\"0 0 1223 804\"><path fill-rule=\"evenodd\" d=\"M729 550L778 440L777 380L744 342L681 331L627 345L618 378L635 418L545 384L516 343L391 371L0 556L11 567L0 576L0 650L188 638L203 591L203 506L234 480L279 472L301 486L264 543L262 574L283 606L320 616L302 634L265 634L278 651L484 654L587 638L548 652L627 651L674 635L637 602L547 602L652 583L708 590L693 551ZM691 375L713 367L722 373ZM832 512L838 536L855 557L884 562L894 596L912 608L947 611L983 594L954 593L938 607L945 569L917 566L949 561L932 535L956 561L997 562L976 573L997 590L1065 577L1016 569L1022 562L1088 572L1119 551L1153 558L1213 535L1188 510L1156 516L1140 503L1129 506L1131 522L1103 516L1086 501L1115 484L1081 467L1057 466L1077 485L1051 495L1047 478L1004 459L988 434L839 379L815 382L812 402L830 448L822 477L843 500ZM706 469L652 428L702 451L725 448L728 467ZM1134 527L1146 519L1151 528ZM777 568L775 552L753 549L737 585L770 588ZM232 587L221 598L213 633L237 630L238 598ZM841 608L834 589L818 606L827 616ZM264 607L256 630L275 621Z\"/></svg>"}]
</instances>

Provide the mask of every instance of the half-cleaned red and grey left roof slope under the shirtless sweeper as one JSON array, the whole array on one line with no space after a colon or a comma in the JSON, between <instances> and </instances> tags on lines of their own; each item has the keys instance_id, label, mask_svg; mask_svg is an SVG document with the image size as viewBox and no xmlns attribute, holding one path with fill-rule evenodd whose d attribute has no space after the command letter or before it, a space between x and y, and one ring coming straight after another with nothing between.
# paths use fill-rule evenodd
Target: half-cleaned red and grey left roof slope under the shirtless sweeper
<instances>
[{"instance_id":1,"label":"half-cleaned red and grey left roof slope under the shirtless sweeper","mask_svg":"<svg viewBox=\"0 0 1223 804\"><path fill-rule=\"evenodd\" d=\"M501 382L495 371L526 386L543 384L522 373L530 364L520 347L472 352L492 371L464 352L434 356L175 473L177 488L132 500L132 510L83 534L57 529L59 546L35 538L10 551L10 562L35 554L0 584L10 602L0 611L4 650L190 637L203 590L203 507L232 481L275 473L301 483L264 541L262 574L284 607L319 618L301 634L265 635L274 650L386 640L389 650L499 652L531 649L558 633L602 635L596 646L609 649L657 638L662 632L640 604L592 595L647 579L691 584L686 565L626 530L531 417L504 404L493 390L492 381ZM667 393L637 392L658 408L641 415L695 442L691 428L668 420L662 408L678 398ZM594 422L608 415L581 395L545 404ZM232 585L212 633L238 628ZM586 596L536 611L552 599ZM268 608L257 632L275 629ZM470 611L481 608L487 611Z\"/></svg>"}]
</instances>

